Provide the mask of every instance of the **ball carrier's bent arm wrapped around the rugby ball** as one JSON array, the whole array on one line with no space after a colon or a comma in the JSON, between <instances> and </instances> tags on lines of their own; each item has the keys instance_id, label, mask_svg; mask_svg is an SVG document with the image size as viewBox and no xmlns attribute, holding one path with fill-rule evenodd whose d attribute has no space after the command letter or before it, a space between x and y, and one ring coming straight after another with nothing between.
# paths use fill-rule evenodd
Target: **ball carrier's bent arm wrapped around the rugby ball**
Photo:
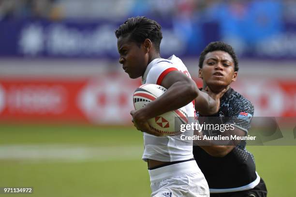
<instances>
[{"instance_id":1,"label":"ball carrier's bent arm wrapped around the rugby ball","mask_svg":"<svg viewBox=\"0 0 296 197\"><path fill-rule=\"evenodd\" d=\"M169 72L160 85L167 89L163 95L147 106L131 111L136 128L155 136L160 135L150 129L148 119L186 106L197 97L199 91L195 82L179 71Z\"/></svg>"}]
</instances>

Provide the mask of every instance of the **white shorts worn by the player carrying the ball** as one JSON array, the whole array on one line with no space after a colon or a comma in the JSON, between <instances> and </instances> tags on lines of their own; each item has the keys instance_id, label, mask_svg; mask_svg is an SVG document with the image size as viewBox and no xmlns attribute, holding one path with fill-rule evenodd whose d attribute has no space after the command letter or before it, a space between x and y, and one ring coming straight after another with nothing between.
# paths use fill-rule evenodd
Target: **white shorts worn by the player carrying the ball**
<instances>
[{"instance_id":1,"label":"white shorts worn by the player carrying the ball","mask_svg":"<svg viewBox=\"0 0 296 197\"><path fill-rule=\"evenodd\" d=\"M149 170L151 197L209 197L204 174L188 161Z\"/></svg>"}]
</instances>

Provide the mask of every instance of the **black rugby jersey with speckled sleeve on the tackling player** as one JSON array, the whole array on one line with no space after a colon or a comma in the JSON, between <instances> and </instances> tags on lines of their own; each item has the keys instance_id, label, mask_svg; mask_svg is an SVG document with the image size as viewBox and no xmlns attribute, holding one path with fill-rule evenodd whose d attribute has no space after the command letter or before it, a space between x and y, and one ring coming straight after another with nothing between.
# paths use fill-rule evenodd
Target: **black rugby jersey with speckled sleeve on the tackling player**
<instances>
[{"instance_id":1,"label":"black rugby jersey with speckled sleeve on the tackling player","mask_svg":"<svg viewBox=\"0 0 296 197\"><path fill-rule=\"evenodd\" d=\"M212 117L225 117L223 123L234 123L247 135L253 114L252 103L230 88L220 99L218 113ZM198 114L197 116L202 117ZM242 191L252 189L256 185L260 177L255 171L253 155L245 147L246 141L241 140L239 145L224 157L213 157L202 148L193 146L194 158L206 177L211 193Z\"/></svg>"}]
</instances>

